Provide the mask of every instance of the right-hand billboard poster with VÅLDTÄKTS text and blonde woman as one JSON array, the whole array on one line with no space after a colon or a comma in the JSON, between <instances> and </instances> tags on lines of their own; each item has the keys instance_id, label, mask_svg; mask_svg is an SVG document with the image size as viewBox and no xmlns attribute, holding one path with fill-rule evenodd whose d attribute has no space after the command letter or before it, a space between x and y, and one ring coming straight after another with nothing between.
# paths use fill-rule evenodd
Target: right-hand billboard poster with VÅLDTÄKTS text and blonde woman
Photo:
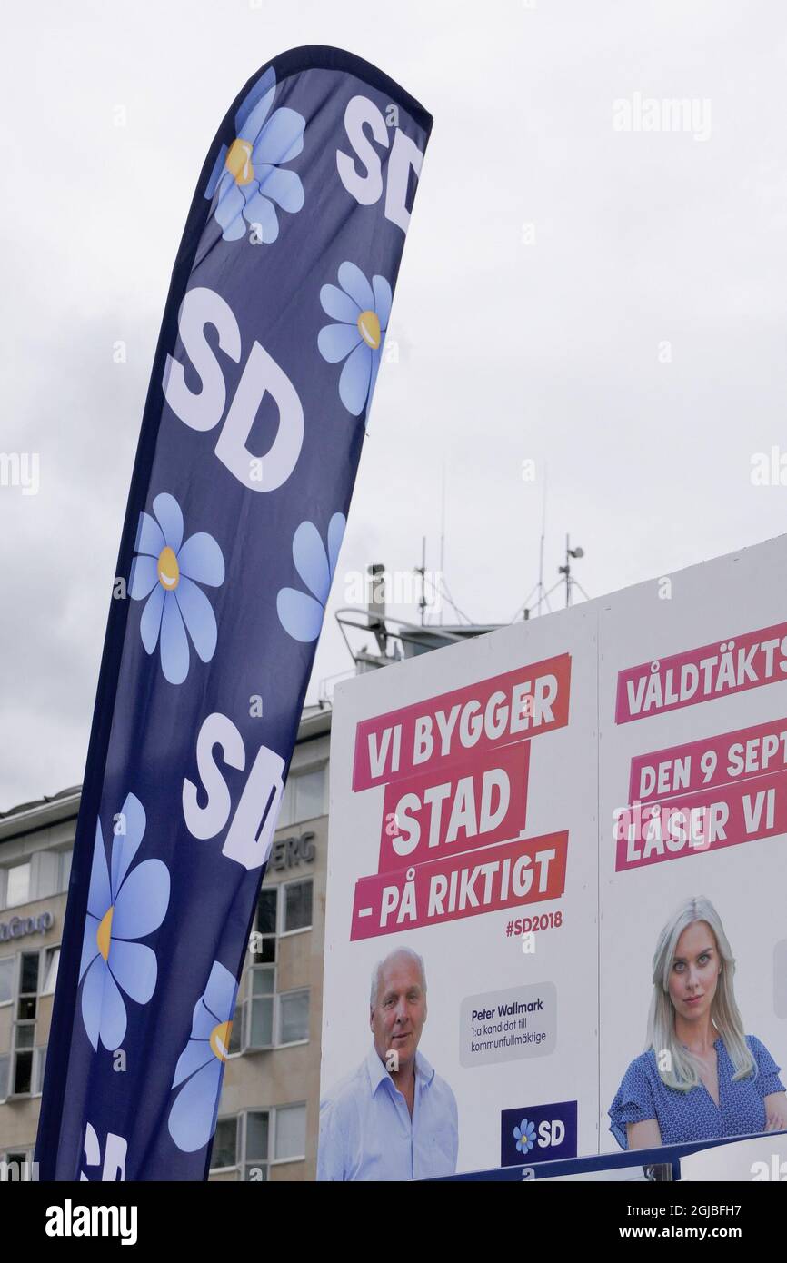
<instances>
[{"instance_id":1,"label":"right-hand billboard poster with V\u00c5LDT\u00c4KTS text and blonde woman","mask_svg":"<svg viewBox=\"0 0 787 1263\"><path fill-rule=\"evenodd\" d=\"M599 1080L622 1142L658 1143L646 1115L663 1144L787 1128L786 591L781 537L599 602Z\"/></svg>"}]
</instances>

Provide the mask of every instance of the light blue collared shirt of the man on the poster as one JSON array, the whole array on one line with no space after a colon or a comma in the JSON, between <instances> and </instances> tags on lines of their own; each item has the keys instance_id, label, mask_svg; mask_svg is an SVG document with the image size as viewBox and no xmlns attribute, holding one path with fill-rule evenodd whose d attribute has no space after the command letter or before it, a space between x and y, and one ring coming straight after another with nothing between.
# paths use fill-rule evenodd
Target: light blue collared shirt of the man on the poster
<instances>
[{"instance_id":1,"label":"light blue collared shirt of the man on the poster","mask_svg":"<svg viewBox=\"0 0 787 1263\"><path fill-rule=\"evenodd\" d=\"M317 1180L430 1180L452 1176L456 1098L416 1052L413 1116L374 1045L320 1109Z\"/></svg>"}]
</instances>

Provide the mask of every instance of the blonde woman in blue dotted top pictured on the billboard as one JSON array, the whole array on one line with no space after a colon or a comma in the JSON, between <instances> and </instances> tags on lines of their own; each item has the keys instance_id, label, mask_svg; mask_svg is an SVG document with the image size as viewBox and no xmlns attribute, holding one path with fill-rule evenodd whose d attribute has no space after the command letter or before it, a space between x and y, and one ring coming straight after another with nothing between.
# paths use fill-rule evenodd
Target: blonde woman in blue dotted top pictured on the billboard
<instances>
[{"instance_id":1,"label":"blonde woman in blue dotted top pictured on the billboard","mask_svg":"<svg viewBox=\"0 0 787 1263\"><path fill-rule=\"evenodd\" d=\"M688 899L653 956L648 1048L610 1105L624 1149L787 1128L787 1095L766 1046L744 1034L735 959L710 899Z\"/></svg>"}]
</instances>

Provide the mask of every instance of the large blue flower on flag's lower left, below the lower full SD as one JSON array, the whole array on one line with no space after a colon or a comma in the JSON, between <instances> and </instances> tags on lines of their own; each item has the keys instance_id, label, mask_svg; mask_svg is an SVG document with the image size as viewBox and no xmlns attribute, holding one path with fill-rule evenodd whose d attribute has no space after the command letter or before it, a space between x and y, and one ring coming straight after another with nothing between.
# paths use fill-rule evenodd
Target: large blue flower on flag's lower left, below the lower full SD
<instances>
[{"instance_id":1,"label":"large blue flower on flag's lower left, below the lower full SD","mask_svg":"<svg viewBox=\"0 0 787 1263\"><path fill-rule=\"evenodd\" d=\"M82 938L80 983L82 1021L93 1050L99 1039L111 1052L126 1033L124 991L136 1004L147 1004L155 989L155 952L135 942L158 930L169 904L169 871L162 860L144 860L129 873L145 831L145 811L128 794L115 817L111 873L101 821L96 823L93 864L87 893L87 918Z\"/></svg>"}]
</instances>

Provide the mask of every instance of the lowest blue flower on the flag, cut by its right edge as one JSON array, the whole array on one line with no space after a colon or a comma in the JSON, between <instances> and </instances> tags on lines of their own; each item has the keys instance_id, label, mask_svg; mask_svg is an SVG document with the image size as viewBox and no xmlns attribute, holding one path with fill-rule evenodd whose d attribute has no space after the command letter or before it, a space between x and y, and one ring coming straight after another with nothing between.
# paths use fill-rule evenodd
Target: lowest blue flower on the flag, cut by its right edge
<instances>
[{"instance_id":1,"label":"lowest blue flower on the flag, cut by its right edge","mask_svg":"<svg viewBox=\"0 0 787 1263\"><path fill-rule=\"evenodd\" d=\"M169 1110L169 1134L178 1149L196 1153L216 1130L216 1111L237 983L217 960L195 1005L191 1038L178 1057L172 1086L181 1091Z\"/></svg>"}]
</instances>

